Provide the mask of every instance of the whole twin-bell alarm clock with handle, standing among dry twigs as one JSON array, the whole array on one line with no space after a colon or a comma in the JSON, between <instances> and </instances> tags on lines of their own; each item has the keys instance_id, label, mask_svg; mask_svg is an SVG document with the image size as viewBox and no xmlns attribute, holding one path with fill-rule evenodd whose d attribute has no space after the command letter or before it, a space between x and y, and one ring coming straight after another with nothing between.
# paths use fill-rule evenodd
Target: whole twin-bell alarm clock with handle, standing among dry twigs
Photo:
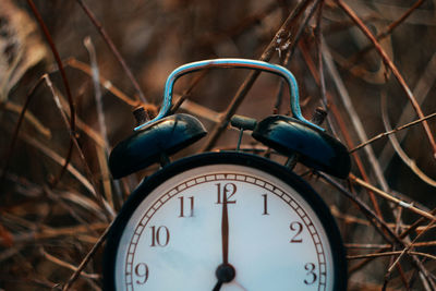
<instances>
[{"instance_id":1,"label":"whole twin-bell alarm clock with handle, standing among dry twigs","mask_svg":"<svg viewBox=\"0 0 436 291\"><path fill-rule=\"evenodd\" d=\"M282 155L296 154L307 167L348 175L347 148L302 117L291 72L261 61L217 59L182 65L169 75L158 116L112 150L114 178L168 160L206 135L196 118L169 114L169 109L178 77L209 68L284 77L293 117L250 122L252 136ZM328 207L291 169L253 154L204 153L165 163L129 196L107 239L104 287L346 290L346 252Z\"/></svg>"}]
</instances>

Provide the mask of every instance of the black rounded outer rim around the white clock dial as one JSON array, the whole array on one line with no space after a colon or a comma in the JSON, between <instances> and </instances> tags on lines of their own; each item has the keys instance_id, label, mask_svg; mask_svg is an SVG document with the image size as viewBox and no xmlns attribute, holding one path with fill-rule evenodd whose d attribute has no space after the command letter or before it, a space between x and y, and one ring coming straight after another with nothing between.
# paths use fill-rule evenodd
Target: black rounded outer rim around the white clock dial
<instances>
[{"instance_id":1,"label":"black rounded outer rim around the white clock dial","mask_svg":"<svg viewBox=\"0 0 436 291\"><path fill-rule=\"evenodd\" d=\"M220 163L246 166L264 172L266 172L267 169L269 174L280 179L299 192L318 216L331 245L331 255L335 266L334 290L347 290L346 250L335 218L330 214L325 202L312 186L284 166L261 156L240 151L206 153L182 158L146 178L138 185L124 203L109 231L104 254L104 290L114 290L114 267L120 239L129 219L142 201L146 198L154 189L177 174L193 168Z\"/></svg>"}]
</instances>

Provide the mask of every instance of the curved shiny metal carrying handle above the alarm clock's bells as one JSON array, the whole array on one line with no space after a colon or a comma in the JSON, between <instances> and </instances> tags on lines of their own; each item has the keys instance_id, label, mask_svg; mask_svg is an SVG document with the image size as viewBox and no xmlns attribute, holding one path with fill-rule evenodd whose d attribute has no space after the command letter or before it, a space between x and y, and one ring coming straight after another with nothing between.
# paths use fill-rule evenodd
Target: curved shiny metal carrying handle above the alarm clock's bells
<instances>
[{"instance_id":1,"label":"curved shiny metal carrying handle above the alarm clock's bells","mask_svg":"<svg viewBox=\"0 0 436 291\"><path fill-rule=\"evenodd\" d=\"M171 104L172 104L172 90L174 87L174 83L179 77L181 77L185 74L195 72L195 71L210 69L210 68L252 69L252 70L265 71L265 72L269 72L269 73L282 76L288 82L288 85L289 85L290 96L291 96L290 104L291 104L291 111L292 111L293 117L305 124L314 126L323 132L325 131L323 128L306 120L303 117L303 114L301 113L299 86L296 84L295 77L288 69L286 69L281 65L271 64L268 62L247 60L247 59L213 59L213 60L204 60L204 61L198 61L198 62L186 63L184 65L177 68L174 71L172 71L172 73L167 78L167 82L165 85L165 92L164 92L164 102L162 102L162 106L160 107L159 113L153 120L146 121L146 122L142 123L141 125L136 126L135 131L142 130L145 126L168 116L168 112L170 111Z\"/></svg>"}]
</instances>

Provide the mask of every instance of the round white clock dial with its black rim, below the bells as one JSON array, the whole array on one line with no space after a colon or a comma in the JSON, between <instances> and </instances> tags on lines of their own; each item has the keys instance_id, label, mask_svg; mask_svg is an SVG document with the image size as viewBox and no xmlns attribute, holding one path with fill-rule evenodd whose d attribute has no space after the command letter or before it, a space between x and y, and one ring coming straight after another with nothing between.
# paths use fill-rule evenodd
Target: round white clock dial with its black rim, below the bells
<instances>
[{"instance_id":1,"label":"round white clock dial with its black rim, below the bells","mask_svg":"<svg viewBox=\"0 0 436 291\"><path fill-rule=\"evenodd\" d=\"M105 283L116 290L346 289L340 235L317 194L240 153L186 158L146 180L105 255ZM223 263L233 271L226 281Z\"/></svg>"}]
</instances>

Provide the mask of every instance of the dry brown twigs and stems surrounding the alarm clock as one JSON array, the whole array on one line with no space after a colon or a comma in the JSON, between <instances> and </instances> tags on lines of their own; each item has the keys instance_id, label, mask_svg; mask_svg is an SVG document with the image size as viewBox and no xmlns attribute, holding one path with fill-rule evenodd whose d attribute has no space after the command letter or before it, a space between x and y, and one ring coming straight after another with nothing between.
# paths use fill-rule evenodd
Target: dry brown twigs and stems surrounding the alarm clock
<instances>
[{"instance_id":1,"label":"dry brown twigs and stems surrounding the alarm clock","mask_svg":"<svg viewBox=\"0 0 436 291\"><path fill-rule=\"evenodd\" d=\"M337 218L349 289L436 290L435 5L0 0L0 290L100 290L105 230L158 167L114 182L108 153L132 133L133 108L158 109L174 68L225 57L288 66L303 114L326 106L324 126L352 153L348 181L295 168ZM179 82L179 110L209 135L173 159L235 147L235 131L211 133L247 75ZM262 75L237 113L289 113L279 84ZM249 135L242 147L265 149Z\"/></svg>"}]
</instances>

